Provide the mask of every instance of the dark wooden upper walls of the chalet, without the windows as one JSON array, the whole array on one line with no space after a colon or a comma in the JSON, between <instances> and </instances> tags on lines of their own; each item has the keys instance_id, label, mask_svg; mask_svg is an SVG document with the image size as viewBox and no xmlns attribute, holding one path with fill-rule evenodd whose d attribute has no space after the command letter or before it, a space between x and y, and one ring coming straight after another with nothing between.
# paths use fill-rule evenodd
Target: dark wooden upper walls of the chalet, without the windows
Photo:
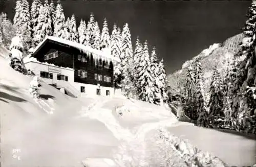
<instances>
[{"instance_id":1,"label":"dark wooden upper walls of the chalet, without the windows","mask_svg":"<svg viewBox=\"0 0 256 167\"><path fill-rule=\"evenodd\" d=\"M58 51L58 57L52 58L49 60L44 60L44 55L53 53ZM87 62L81 62L77 59L78 54L87 56ZM101 66L95 65L95 59L93 59L92 55L86 55L82 54L79 50L61 45L59 43L56 43L54 41L48 41L46 42L45 45L39 49L39 51L34 55L34 57L39 61L39 62L48 62L51 64L55 64L57 66L62 66L62 67L70 67L75 69L74 73L74 81L79 82L79 83L84 83L84 84L100 84L104 87L113 87L113 81L114 81L114 70L113 70L113 63L110 63L110 68L106 69L103 67L103 64L105 63L102 61ZM86 70L88 77L87 78L81 78L78 77L77 75L77 70L82 69ZM102 76L108 76L111 77L111 82L104 82L102 81L97 81L94 79L94 74L99 74Z\"/></svg>"}]
</instances>

